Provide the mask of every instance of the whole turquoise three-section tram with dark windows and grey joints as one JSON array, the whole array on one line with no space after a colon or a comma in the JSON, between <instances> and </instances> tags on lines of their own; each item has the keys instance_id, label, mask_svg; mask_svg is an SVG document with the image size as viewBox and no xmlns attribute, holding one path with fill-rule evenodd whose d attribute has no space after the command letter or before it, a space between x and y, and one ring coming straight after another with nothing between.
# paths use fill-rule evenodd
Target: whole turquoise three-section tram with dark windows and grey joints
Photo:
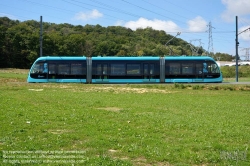
<instances>
[{"instance_id":1,"label":"whole turquoise three-section tram with dark windows and grey joints","mask_svg":"<svg viewBox=\"0 0 250 166\"><path fill-rule=\"evenodd\" d=\"M211 57L40 57L27 82L222 82Z\"/></svg>"}]
</instances>

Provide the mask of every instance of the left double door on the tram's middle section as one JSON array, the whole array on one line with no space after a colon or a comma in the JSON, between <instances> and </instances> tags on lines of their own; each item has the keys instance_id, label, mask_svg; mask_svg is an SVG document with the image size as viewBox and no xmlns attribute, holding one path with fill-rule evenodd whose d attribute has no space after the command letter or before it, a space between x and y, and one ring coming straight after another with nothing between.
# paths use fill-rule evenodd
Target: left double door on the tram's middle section
<instances>
[{"instance_id":1,"label":"left double door on the tram's middle section","mask_svg":"<svg viewBox=\"0 0 250 166\"><path fill-rule=\"evenodd\" d=\"M106 82L108 81L108 64L97 64L96 66L96 81Z\"/></svg>"}]
</instances>

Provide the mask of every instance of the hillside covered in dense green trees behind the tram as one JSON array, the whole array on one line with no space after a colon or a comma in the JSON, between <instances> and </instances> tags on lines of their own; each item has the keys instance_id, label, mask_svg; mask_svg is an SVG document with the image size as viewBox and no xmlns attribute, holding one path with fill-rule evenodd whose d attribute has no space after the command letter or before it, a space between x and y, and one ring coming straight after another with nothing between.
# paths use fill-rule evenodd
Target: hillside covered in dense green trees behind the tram
<instances>
[{"instance_id":1,"label":"hillside covered in dense green trees behind the tram","mask_svg":"<svg viewBox=\"0 0 250 166\"><path fill-rule=\"evenodd\" d=\"M40 23L0 17L0 68L30 68L39 57ZM192 55L188 42L150 27L133 31L121 26L74 26L43 23L43 56ZM192 46L195 47L195 46ZM200 48L198 55L206 50ZM220 54L221 60L232 56Z\"/></svg>"}]
</instances>

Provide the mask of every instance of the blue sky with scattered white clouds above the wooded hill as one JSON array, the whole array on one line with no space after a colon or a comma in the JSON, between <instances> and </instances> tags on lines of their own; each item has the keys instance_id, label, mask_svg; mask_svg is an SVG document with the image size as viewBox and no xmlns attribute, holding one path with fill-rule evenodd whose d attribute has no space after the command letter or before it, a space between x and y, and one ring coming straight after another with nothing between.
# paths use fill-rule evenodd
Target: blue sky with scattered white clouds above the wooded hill
<instances>
[{"instance_id":1,"label":"blue sky with scattered white clouds above the wooded hill","mask_svg":"<svg viewBox=\"0 0 250 166\"><path fill-rule=\"evenodd\" d=\"M40 21L42 16L43 22L132 30L152 27L233 56L237 16L239 56L244 60L250 54L250 0L0 0L0 17L4 16L20 21Z\"/></svg>"}]
</instances>

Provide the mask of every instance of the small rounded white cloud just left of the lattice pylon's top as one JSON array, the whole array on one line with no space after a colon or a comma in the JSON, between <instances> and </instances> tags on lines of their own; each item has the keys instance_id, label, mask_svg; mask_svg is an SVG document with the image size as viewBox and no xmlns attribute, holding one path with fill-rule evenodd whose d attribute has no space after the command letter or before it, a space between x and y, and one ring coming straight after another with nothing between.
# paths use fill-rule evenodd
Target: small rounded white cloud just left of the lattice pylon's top
<instances>
[{"instance_id":1,"label":"small rounded white cloud just left of the lattice pylon's top","mask_svg":"<svg viewBox=\"0 0 250 166\"><path fill-rule=\"evenodd\" d=\"M191 32L202 32L207 30L207 22L200 16L187 22L188 30Z\"/></svg>"}]
</instances>

